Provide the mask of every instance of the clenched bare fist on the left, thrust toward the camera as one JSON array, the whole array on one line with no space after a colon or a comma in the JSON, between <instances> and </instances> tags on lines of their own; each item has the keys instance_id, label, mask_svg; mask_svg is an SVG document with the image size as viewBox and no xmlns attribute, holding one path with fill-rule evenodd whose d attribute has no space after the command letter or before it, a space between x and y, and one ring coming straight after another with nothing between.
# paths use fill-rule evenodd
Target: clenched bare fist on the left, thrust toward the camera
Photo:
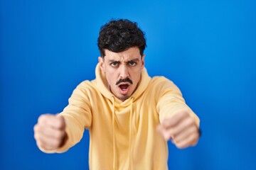
<instances>
[{"instance_id":1,"label":"clenched bare fist on the left, thrust toward the camera","mask_svg":"<svg viewBox=\"0 0 256 170\"><path fill-rule=\"evenodd\" d=\"M67 137L65 132L65 119L61 115L41 115L33 130L36 145L45 150L53 150L62 147Z\"/></svg>"}]
</instances>

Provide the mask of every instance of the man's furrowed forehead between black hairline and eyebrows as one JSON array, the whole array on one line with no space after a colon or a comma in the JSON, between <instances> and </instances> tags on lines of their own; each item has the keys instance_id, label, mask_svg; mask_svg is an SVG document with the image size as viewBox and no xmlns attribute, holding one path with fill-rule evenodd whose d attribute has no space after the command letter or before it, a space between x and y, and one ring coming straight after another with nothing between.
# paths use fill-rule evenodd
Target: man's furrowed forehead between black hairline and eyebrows
<instances>
[{"instance_id":1,"label":"man's furrowed forehead between black hairline and eyebrows","mask_svg":"<svg viewBox=\"0 0 256 170\"><path fill-rule=\"evenodd\" d=\"M141 58L138 47L130 47L123 52L105 50L105 60L128 61Z\"/></svg>"}]
</instances>

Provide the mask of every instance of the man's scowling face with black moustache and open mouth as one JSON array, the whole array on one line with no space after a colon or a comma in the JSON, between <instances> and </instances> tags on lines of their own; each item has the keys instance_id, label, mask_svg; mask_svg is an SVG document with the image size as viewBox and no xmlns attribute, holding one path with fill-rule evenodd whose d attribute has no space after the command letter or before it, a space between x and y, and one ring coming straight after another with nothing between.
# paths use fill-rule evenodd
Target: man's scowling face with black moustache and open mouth
<instances>
[{"instance_id":1,"label":"man's scowling face with black moustache and open mouth","mask_svg":"<svg viewBox=\"0 0 256 170\"><path fill-rule=\"evenodd\" d=\"M137 89L144 68L144 57L138 47L124 52L105 50L105 57L99 57L100 68L105 72L110 91L121 101L132 96Z\"/></svg>"}]
</instances>

